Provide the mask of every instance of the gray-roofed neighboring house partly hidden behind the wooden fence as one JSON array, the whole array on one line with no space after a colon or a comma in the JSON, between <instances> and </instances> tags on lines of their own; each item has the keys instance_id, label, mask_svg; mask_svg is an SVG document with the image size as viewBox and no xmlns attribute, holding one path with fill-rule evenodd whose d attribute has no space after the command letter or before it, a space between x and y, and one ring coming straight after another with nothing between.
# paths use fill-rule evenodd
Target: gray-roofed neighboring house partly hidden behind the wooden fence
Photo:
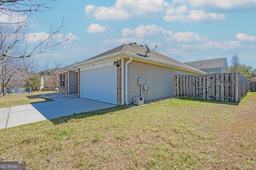
<instances>
[{"instance_id":1,"label":"gray-roofed neighboring house partly hidden behind the wooden fence","mask_svg":"<svg viewBox=\"0 0 256 170\"><path fill-rule=\"evenodd\" d=\"M224 72L224 70L228 69L228 62L226 58L194 61L184 64L187 64L207 73L221 73Z\"/></svg>"}]
</instances>

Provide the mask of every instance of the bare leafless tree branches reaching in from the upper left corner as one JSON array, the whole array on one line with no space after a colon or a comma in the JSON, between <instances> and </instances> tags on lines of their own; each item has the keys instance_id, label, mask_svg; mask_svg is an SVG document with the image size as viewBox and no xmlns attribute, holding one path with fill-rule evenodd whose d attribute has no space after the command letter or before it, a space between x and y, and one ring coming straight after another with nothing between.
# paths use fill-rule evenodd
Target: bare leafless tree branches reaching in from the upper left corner
<instances>
[{"instance_id":1,"label":"bare leafless tree branches reaching in from the upper left corner","mask_svg":"<svg viewBox=\"0 0 256 170\"><path fill-rule=\"evenodd\" d=\"M60 33L60 29L64 26L61 21L60 26L56 29L50 25L48 36L35 44L34 47L29 47L27 40L29 37L25 35L25 29L30 24L37 20L38 14L44 14L53 8L49 7L50 2L56 0L0 0L0 73L5 73L5 61L7 57L24 58L32 57L38 53L46 53L60 49L60 44L68 41L54 42L54 36ZM0 82L4 75L0 75ZM10 80L9 80L10 81ZM4 86L1 84L1 86ZM0 96L2 95L0 86Z\"/></svg>"}]
</instances>

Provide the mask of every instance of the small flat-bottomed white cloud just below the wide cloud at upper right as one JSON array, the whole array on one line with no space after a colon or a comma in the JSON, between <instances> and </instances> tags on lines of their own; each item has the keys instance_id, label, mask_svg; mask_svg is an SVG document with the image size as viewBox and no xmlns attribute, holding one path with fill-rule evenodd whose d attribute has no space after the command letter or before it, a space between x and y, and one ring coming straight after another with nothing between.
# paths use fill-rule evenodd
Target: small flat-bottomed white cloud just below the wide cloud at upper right
<instances>
[{"instance_id":1,"label":"small flat-bottomed white cloud just below the wide cloud at upper right","mask_svg":"<svg viewBox=\"0 0 256 170\"><path fill-rule=\"evenodd\" d=\"M202 42L202 41L207 41L206 37L200 37L197 33L193 32L178 32L174 33L174 36L167 39L167 42L170 41L177 41L177 42Z\"/></svg>"}]
</instances>

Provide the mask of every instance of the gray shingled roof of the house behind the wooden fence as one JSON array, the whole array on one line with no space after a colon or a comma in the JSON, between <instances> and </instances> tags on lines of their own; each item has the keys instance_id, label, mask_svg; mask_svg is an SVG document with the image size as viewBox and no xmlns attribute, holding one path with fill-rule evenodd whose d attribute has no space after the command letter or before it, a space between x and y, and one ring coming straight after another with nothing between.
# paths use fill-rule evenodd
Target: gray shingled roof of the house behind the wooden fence
<instances>
[{"instance_id":1,"label":"gray shingled roof of the house behind the wooden fence","mask_svg":"<svg viewBox=\"0 0 256 170\"><path fill-rule=\"evenodd\" d=\"M204 69L204 68L220 68L223 67L226 58L221 58L221 59L211 59L211 60L202 60L202 61L194 61L194 62L187 62L184 64L190 65L194 68L197 69Z\"/></svg>"}]
</instances>

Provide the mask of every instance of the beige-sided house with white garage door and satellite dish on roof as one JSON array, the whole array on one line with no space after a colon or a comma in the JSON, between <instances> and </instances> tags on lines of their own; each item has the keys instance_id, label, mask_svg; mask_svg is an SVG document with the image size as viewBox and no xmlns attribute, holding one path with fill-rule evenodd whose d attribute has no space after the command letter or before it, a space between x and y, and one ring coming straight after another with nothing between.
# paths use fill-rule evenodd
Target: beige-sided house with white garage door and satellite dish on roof
<instances>
[{"instance_id":1,"label":"beige-sided house with white garage door and satellite dish on roof","mask_svg":"<svg viewBox=\"0 0 256 170\"><path fill-rule=\"evenodd\" d=\"M80 98L123 105L132 103L134 97L174 96L175 74L206 74L155 51L145 57L145 51L136 43L121 45L58 70L60 82L66 88L72 76L67 72L77 72Z\"/></svg>"}]
</instances>

